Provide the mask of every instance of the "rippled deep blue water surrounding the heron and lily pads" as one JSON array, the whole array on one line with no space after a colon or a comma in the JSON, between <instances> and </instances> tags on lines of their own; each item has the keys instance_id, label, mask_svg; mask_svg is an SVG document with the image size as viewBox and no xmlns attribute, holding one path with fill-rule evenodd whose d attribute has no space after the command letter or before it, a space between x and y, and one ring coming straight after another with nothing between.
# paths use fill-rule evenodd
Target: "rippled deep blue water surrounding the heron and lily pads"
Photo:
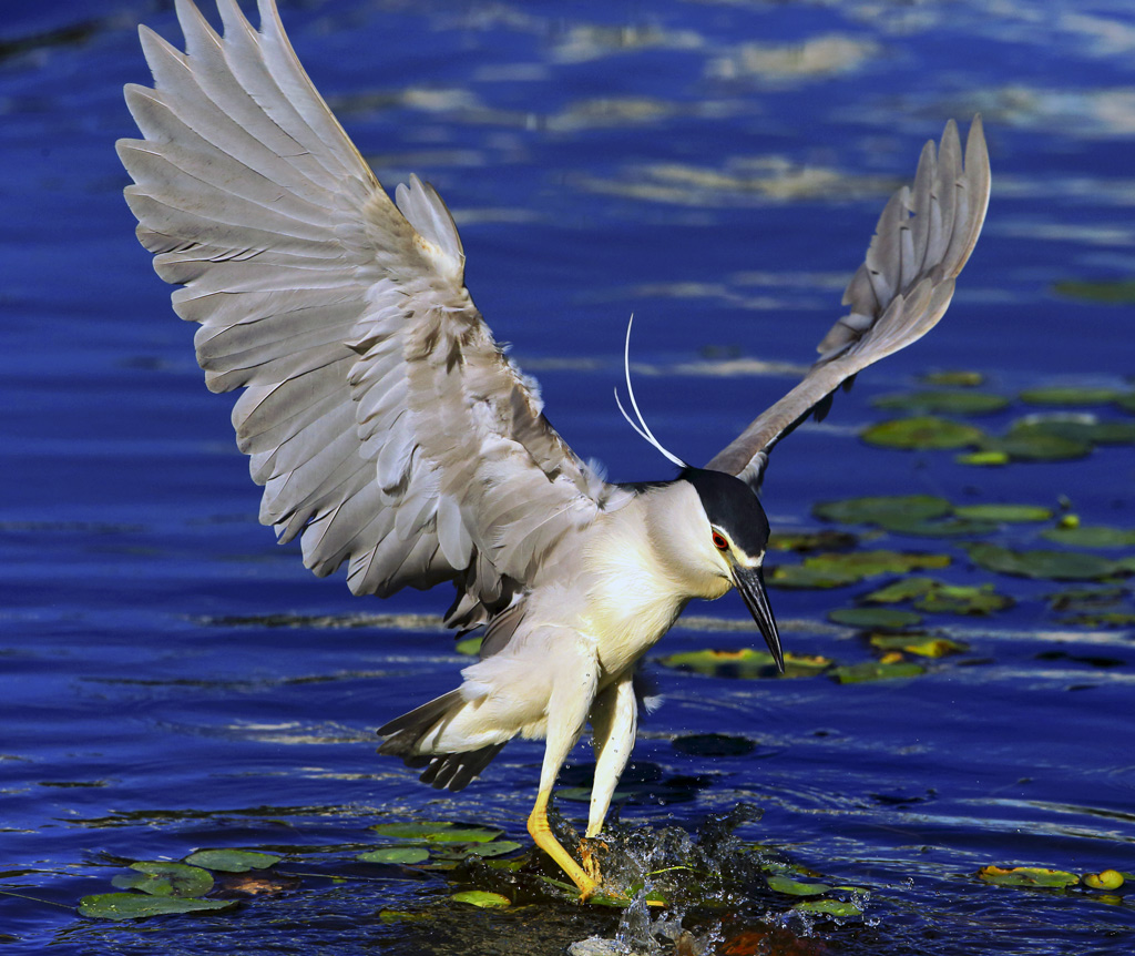
<instances>
[{"instance_id":1,"label":"rippled deep blue water surrounding the heron and lily pads","mask_svg":"<svg viewBox=\"0 0 1135 956\"><path fill-rule=\"evenodd\" d=\"M627 317L648 420L683 458L708 459L793 384L775 363L810 361L922 143L980 110L994 190L949 315L776 450L765 506L774 530L818 527L818 501L915 493L1063 502L1084 525L1135 527L1129 444L977 469L857 437L884 417L873 397L934 369L981 371L1010 396L1130 391L1132 307L1053 288L1135 274L1129 5L312 0L283 16L379 177L393 186L417 171L446 199L497 338L538 376L569 443L617 480L666 475L611 399ZM353 864L367 827L491 821L524 839L541 750L510 745L455 796L375 755L373 728L451 689L468 662L436 622L411 617L449 597L352 598L257 525L230 400L203 387L193 329L121 200L112 144L133 134L121 85L148 77L138 22L178 35L169 5L137 0L24 3L0 23L6 951L550 954L612 936L616 915L572 907L478 914L432 936L375 920L447 890ZM714 374L731 358L774 366ZM999 431L1028 411L1016 402L976 421ZM992 540L1050 546L1042 527ZM944 579L993 584L1017 605L930 615L969 652L911 680L653 666L666 703L642 723L637 763L703 780L689 799L631 805L623 820L696 831L742 802L763 810L742 837L869 890L861 925L793 924L838 951L1129 953L1129 892L1016 890L974 874L1135 870L1132 628L1070 624L1043 598L1067 585L981 570L956 542L864 546L950 554ZM826 615L871 587L774 590L787 649L868 660ZM1120 587L1129 612L1129 580ZM717 623L680 623L661 653L756 639L720 629L745 619L735 596L690 613ZM348 627L358 614L392 617ZM671 744L706 731L749 737L756 756ZM574 763L588 755L581 746ZM236 914L112 924L75 912L125 862L204 846L283 848L293 871L317 875Z\"/></svg>"}]
</instances>

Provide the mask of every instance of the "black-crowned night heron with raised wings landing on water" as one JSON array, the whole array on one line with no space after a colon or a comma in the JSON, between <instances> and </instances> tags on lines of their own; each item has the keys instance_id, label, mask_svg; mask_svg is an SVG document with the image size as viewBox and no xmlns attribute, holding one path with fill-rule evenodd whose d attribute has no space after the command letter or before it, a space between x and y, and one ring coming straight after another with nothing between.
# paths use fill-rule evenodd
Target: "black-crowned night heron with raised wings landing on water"
<instances>
[{"instance_id":1,"label":"black-crowned night heron with raised wings landing on water","mask_svg":"<svg viewBox=\"0 0 1135 956\"><path fill-rule=\"evenodd\" d=\"M393 199L308 77L275 0L259 28L217 0L217 32L176 0L184 50L140 26L152 86L128 84L141 139L118 156L126 202L213 392L242 389L238 448L260 521L356 595L449 582L444 623L484 629L460 686L378 729L379 752L460 790L508 740L546 740L533 842L587 899L595 857L553 835L557 774L590 726L586 839L602 832L634 744L638 665L688 602L737 589L777 666L758 497L773 447L841 385L928 332L985 218L981 116L950 120L888 202L802 380L704 467L665 448L630 378L620 409L676 475L608 483L543 411L464 285L453 216L418 176ZM712 409L707 410L712 412Z\"/></svg>"}]
</instances>

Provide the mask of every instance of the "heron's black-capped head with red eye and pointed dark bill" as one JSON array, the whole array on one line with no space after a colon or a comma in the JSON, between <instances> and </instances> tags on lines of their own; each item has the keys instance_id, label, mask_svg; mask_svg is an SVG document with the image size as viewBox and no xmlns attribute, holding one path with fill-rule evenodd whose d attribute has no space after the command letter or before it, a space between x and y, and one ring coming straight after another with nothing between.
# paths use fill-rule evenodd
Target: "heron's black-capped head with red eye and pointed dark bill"
<instances>
[{"instance_id":1,"label":"heron's black-capped head with red eye and pointed dark bill","mask_svg":"<svg viewBox=\"0 0 1135 956\"><path fill-rule=\"evenodd\" d=\"M723 471L687 467L679 481L693 486L705 512L705 521L697 522L699 555L741 593L777 669L783 672L780 634L762 571L768 546L765 510L745 481Z\"/></svg>"}]
</instances>

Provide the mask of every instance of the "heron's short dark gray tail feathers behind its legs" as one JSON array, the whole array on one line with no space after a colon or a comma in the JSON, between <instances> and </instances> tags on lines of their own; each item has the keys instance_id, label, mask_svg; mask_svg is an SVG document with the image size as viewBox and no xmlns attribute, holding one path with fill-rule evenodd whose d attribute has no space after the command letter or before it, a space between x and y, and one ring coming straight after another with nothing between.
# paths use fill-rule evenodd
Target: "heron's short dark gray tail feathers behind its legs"
<instances>
[{"instance_id":1,"label":"heron's short dark gray tail feathers behind its legs","mask_svg":"<svg viewBox=\"0 0 1135 956\"><path fill-rule=\"evenodd\" d=\"M427 736L436 737L440 729L451 723L466 706L460 690L451 690L422 704L409 713L397 716L378 729L378 736L386 739L378 748L380 754L402 757L406 766L426 768L419 778L439 790L462 790L477 777L493 758L501 753L507 740L489 744L472 750L436 753L424 741Z\"/></svg>"}]
</instances>

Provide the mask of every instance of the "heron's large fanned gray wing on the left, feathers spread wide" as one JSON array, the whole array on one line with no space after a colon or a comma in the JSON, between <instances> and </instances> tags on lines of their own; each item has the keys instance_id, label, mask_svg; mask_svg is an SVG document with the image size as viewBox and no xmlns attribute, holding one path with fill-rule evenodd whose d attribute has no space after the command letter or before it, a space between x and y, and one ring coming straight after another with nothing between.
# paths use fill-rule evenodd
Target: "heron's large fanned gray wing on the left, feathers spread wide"
<instances>
[{"instance_id":1,"label":"heron's large fanned gray wing on the left, feathers spread wide","mask_svg":"<svg viewBox=\"0 0 1135 956\"><path fill-rule=\"evenodd\" d=\"M154 268L182 286L260 520L356 594L454 579L454 623L507 603L612 494L552 429L463 284L448 210L415 177L397 207L316 91L274 0L224 37L177 1L186 52L141 30L154 87L118 153Z\"/></svg>"}]
</instances>

